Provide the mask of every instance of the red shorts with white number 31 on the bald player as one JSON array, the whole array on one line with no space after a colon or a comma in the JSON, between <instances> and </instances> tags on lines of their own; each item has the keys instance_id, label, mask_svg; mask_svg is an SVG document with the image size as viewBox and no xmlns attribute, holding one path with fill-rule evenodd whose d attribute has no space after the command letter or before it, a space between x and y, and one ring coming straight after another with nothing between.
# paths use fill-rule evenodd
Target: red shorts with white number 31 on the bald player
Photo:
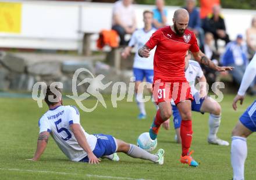
<instances>
[{"instance_id":1,"label":"red shorts with white number 31 on the bald player","mask_svg":"<svg viewBox=\"0 0 256 180\"><path fill-rule=\"evenodd\" d=\"M193 100L190 91L190 85L187 81L162 81L155 80L153 84L153 97L155 102L171 102L173 99L175 105L186 99Z\"/></svg>"}]
</instances>

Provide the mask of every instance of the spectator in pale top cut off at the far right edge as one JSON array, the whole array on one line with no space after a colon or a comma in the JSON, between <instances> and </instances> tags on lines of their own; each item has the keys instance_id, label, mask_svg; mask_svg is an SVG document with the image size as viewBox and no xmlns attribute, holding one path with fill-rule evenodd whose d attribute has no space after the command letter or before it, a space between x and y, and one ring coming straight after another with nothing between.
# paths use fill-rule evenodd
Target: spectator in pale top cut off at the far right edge
<instances>
[{"instance_id":1,"label":"spectator in pale top cut off at the far right edge","mask_svg":"<svg viewBox=\"0 0 256 180\"><path fill-rule=\"evenodd\" d=\"M256 52L256 16L251 21L251 27L246 30L246 43L251 59Z\"/></svg>"}]
</instances>

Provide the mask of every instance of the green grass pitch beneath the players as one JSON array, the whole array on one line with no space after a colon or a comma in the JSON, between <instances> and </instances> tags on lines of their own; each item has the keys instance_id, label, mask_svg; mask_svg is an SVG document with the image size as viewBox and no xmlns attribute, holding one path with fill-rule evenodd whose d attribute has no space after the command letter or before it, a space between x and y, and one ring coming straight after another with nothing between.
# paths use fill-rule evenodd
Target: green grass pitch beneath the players
<instances>
[{"instance_id":1,"label":"green grass pitch beneath the players","mask_svg":"<svg viewBox=\"0 0 256 180\"><path fill-rule=\"evenodd\" d=\"M246 97L238 111L232 109L234 95L225 95L222 105L222 123L219 138L230 142L231 131L239 116L255 98ZM109 97L107 108L98 105L92 113L80 110L81 125L90 133L111 134L129 143L136 143L138 135L147 132L155 109L148 102L147 119L137 120L135 102L118 102L113 108ZM88 99L84 105L93 106L95 100ZM73 100L64 99L64 105L76 105ZM198 168L191 168L179 162L181 146L174 143L174 130L161 129L157 149L165 149L165 163L160 166L150 161L132 159L119 153L120 161L102 160L98 165L69 161L49 138L47 149L38 162L27 161L33 157L37 145L38 119L47 111L38 108L37 102L29 98L0 99L0 179L232 179L230 146L208 145L208 114L193 113L193 157L200 162ZM172 126L172 124L171 124ZM248 156L246 179L255 178L255 134L247 139ZM157 149L154 151L156 152Z\"/></svg>"}]
</instances>

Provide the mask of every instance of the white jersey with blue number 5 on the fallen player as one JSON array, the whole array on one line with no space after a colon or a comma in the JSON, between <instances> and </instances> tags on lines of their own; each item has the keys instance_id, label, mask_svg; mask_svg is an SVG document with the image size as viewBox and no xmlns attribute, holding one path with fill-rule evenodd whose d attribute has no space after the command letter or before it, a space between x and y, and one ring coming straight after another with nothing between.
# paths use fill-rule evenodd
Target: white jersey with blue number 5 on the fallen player
<instances>
[{"instance_id":1,"label":"white jersey with blue number 5 on the fallen player","mask_svg":"<svg viewBox=\"0 0 256 180\"><path fill-rule=\"evenodd\" d=\"M55 109L48 110L38 121L40 133L44 131L50 132L56 144L69 160L80 161L87 157L87 153L77 142L70 129L71 124L80 124L79 110L75 106L57 106ZM81 129L91 150L99 149L97 139L101 137L88 134L83 127ZM104 137L104 139L111 140L107 143L115 143L113 138ZM101 146L101 148L104 149L105 146ZM116 150L116 147L112 149Z\"/></svg>"}]
</instances>

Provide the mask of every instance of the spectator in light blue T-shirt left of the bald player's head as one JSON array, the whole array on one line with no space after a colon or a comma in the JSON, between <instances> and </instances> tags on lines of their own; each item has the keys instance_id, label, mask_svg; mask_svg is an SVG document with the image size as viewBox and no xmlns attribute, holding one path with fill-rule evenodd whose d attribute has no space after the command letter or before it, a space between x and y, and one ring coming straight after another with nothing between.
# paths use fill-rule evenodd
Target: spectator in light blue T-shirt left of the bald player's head
<instances>
[{"instance_id":1,"label":"spectator in light blue T-shirt left of the bald player's head","mask_svg":"<svg viewBox=\"0 0 256 180\"><path fill-rule=\"evenodd\" d=\"M167 10L164 8L165 1L155 0L155 5L157 6L157 8L152 10L154 13L153 26L155 28L165 27L167 22Z\"/></svg>"}]
</instances>

